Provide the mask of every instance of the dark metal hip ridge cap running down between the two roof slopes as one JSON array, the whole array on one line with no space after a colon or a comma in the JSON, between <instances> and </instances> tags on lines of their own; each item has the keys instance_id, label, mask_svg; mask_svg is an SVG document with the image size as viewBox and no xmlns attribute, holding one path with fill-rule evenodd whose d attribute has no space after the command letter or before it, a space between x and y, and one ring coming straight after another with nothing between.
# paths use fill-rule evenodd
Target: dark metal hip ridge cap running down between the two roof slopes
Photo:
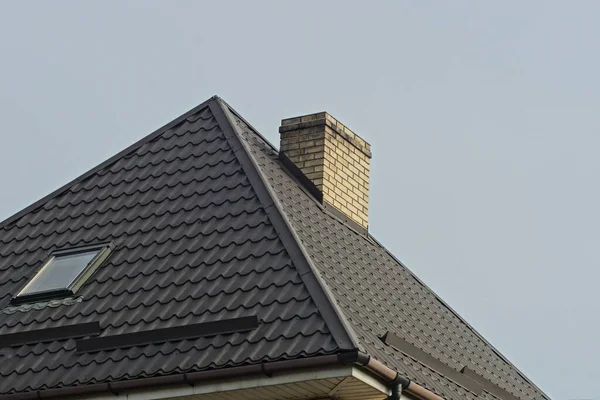
<instances>
[{"instance_id":1,"label":"dark metal hip ridge cap running down between the two roof slopes","mask_svg":"<svg viewBox=\"0 0 600 400\"><path fill-rule=\"evenodd\" d=\"M294 262L296 269L302 279L308 293L315 302L322 318L331 331L331 334L341 350L356 350L359 348L359 341L346 317L339 309L335 298L327 286L320 278L316 267L308 255L308 252L302 245L298 234L295 232L292 224L288 221L277 196L273 193L268 181L262 175L262 172L256 160L252 156L244 140L241 137L239 127L233 122L232 115L243 120L243 118L220 98L215 98L214 102L209 104L213 116L221 126L225 137L237 156L238 162L242 165L248 180L254 188L260 203L263 205L267 216L278 233L279 239ZM245 120L243 120L246 123ZM254 134L262 140L266 139L258 133L249 124L248 127ZM271 144L269 144L272 146Z\"/></svg>"}]
</instances>

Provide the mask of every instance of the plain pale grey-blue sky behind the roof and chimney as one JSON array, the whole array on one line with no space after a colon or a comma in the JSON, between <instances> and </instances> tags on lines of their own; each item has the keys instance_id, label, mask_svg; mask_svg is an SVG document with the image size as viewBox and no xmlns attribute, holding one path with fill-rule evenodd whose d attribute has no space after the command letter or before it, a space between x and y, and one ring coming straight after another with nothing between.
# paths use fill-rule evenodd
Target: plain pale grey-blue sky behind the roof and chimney
<instances>
[{"instance_id":1,"label":"plain pale grey-blue sky behind the roof and chimney","mask_svg":"<svg viewBox=\"0 0 600 400\"><path fill-rule=\"evenodd\" d=\"M213 94L276 144L327 110L373 146L371 233L599 399L600 3L370 3L1 1L0 219Z\"/></svg>"}]
</instances>

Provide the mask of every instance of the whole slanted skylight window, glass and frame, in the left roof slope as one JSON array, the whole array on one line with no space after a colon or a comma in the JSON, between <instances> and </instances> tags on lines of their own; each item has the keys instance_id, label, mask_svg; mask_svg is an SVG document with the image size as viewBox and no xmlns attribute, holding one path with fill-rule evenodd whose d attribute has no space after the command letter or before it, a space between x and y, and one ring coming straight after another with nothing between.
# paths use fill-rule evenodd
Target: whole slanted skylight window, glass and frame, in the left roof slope
<instances>
[{"instance_id":1,"label":"whole slanted skylight window, glass and frame, in the left roof slope","mask_svg":"<svg viewBox=\"0 0 600 400\"><path fill-rule=\"evenodd\" d=\"M74 294L106 259L109 245L56 251L25 285L13 302L51 299Z\"/></svg>"}]
</instances>

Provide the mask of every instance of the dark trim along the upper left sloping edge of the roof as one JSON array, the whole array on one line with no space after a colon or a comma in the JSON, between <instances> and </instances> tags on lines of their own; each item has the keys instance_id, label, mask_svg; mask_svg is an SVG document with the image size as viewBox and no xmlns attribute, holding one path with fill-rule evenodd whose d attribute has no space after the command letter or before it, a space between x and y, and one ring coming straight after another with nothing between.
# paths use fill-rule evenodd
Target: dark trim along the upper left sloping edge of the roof
<instances>
[{"instance_id":1,"label":"dark trim along the upper left sloping edge of the roof","mask_svg":"<svg viewBox=\"0 0 600 400\"><path fill-rule=\"evenodd\" d=\"M7 226L7 225L9 225L9 224L11 224L13 222L15 222L16 220L18 220L19 218L21 218L25 214L27 214L27 213L35 210L36 208L42 206L43 204L45 204L49 200L53 199L54 197L61 195L64 191L66 191L68 188L70 188L71 186L73 186L77 182L80 182L80 181L88 178L89 176L95 174L96 172L98 172L102 168L107 167L108 165L114 163L115 161L119 160L123 156L131 153L134 150L137 150L142 145L144 145L147 142L151 141L155 137L160 136L161 134L163 134L166 130L172 128L173 126L175 126L177 124L179 124L180 122L182 122L183 120L185 120L186 118L188 118L190 115L193 115L193 114L201 111L202 109L208 107L208 104L212 100L214 100L216 98L217 98L216 95L212 96L210 99L202 102L201 104L199 104L196 107L192 108L191 110L189 110L185 114L180 115L179 117L175 118L173 121L171 121L171 122L169 122L169 123L161 126L160 128L158 128L157 130L155 130L151 134L149 134L147 136L144 136L143 138L141 138L137 142L135 142L132 145L130 145L129 147L127 147L125 150L122 150L122 151L118 152L114 156L110 157L108 160L105 160L105 161L101 162L100 164L96 165L95 167L93 167L92 169L90 169L87 172L83 173L82 175L79 175L77 178L69 181L68 183L66 183L63 186L59 187L58 189L56 189L55 191L51 192L50 194L47 194L46 196L42 197L41 199L37 200L36 202L28 205L27 207L25 207L21 211L18 211L16 214L13 214L10 217L6 218L4 221L0 222L0 229L2 229L5 226Z\"/></svg>"}]
</instances>

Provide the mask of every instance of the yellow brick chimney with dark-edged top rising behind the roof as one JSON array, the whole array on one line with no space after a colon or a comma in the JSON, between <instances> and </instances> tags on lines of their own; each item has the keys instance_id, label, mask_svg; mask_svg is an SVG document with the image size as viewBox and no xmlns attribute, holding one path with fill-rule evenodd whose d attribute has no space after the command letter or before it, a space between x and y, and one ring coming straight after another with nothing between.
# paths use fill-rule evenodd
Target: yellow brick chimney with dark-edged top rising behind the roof
<instances>
[{"instance_id":1,"label":"yellow brick chimney with dark-edged top rising behind the roof","mask_svg":"<svg viewBox=\"0 0 600 400\"><path fill-rule=\"evenodd\" d=\"M367 229L371 145L326 112L281 121L280 153L318 189L325 205Z\"/></svg>"}]
</instances>

